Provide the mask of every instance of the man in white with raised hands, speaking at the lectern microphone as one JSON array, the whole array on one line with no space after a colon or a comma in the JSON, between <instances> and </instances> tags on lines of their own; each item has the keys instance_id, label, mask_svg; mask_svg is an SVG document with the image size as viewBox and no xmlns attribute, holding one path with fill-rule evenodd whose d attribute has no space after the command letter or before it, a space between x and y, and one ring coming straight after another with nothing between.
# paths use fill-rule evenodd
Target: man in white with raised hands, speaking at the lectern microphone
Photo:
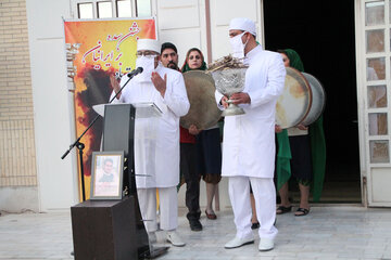
<instances>
[{"instance_id":1,"label":"man in white with raised hands, speaking at the lectern microphone","mask_svg":"<svg viewBox=\"0 0 391 260\"><path fill-rule=\"evenodd\" d=\"M178 226L179 118L190 107L184 77L160 63L161 46L156 40L139 39L136 67L143 72L134 77L113 103L153 102L161 110L159 118L136 118L136 185L142 218L149 233L157 230L156 187L160 198L160 227L167 231L167 240L185 246L175 232ZM128 80L123 77L121 86ZM114 91L118 83L112 80ZM141 174L141 176L140 176Z\"/></svg>"}]
</instances>

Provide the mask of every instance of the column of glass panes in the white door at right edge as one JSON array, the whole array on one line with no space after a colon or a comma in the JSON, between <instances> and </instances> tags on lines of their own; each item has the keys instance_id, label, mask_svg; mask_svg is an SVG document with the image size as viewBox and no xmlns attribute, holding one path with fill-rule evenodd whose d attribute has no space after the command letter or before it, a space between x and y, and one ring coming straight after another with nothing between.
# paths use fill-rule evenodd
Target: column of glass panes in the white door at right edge
<instances>
[{"instance_id":1,"label":"column of glass panes in the white door at right edge","mask_svg":"<svg viewBox=\"0 0 391 260\"><path fill-rule=\"evenodd\" d=\"M366 117L369 164L390 164L391 0L364 1ZM386 18L389 15L389 18Z\"/></svg>"}]
</instances>

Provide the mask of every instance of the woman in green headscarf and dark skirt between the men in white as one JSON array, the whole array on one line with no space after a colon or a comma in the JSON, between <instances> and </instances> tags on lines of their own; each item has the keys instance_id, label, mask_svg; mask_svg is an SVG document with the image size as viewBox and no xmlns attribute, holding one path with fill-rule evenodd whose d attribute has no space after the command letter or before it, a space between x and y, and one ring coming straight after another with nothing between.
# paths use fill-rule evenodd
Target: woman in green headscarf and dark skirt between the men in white
<instances>
[{"instance_id":1,"label":"woman in green headscarf and dark skirt between the men in white","mask_svg":"<svg viewBox=\"0 0 391 260\"><path fill-rule=\"evenodd\" d=\"M206 63L202 52L197 48L191 48L187 54L181 72L205 70ZM218 125L201 131L197 135L198 151L198 172L206 183L206 218L216 219L213 210L213 197L216 195L218 182L222 179L222 148L220 131Z\"/></svg>"}]
</instances>

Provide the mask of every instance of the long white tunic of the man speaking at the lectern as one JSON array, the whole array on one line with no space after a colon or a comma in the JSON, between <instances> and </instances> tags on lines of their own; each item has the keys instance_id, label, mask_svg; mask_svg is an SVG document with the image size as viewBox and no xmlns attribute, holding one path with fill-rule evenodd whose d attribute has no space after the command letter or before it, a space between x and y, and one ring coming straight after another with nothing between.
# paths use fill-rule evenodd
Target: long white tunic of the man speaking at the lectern
<instances>
[{"instance_id":1,"label":"long white tunic of the man speaking at the lectern","mask_svg":"<svg viewBox=\"0 0 391 260\"><path fill-rule=\"evenodd\" d=\"M135 123L135 170L136 185L140 188L176 186L179 182L179 117L190 107L180 73L163 67L155 72L167 84L164 98L152 81L140 82L136 76L123 89L119 100L113 103L153 102L162 112L156 119L136 118ZM125 77L124 77L125 78ZM127 79L121 81L123 86ZM149 136L151 135L151 136Z\"/></svg>"}]
</instances>

